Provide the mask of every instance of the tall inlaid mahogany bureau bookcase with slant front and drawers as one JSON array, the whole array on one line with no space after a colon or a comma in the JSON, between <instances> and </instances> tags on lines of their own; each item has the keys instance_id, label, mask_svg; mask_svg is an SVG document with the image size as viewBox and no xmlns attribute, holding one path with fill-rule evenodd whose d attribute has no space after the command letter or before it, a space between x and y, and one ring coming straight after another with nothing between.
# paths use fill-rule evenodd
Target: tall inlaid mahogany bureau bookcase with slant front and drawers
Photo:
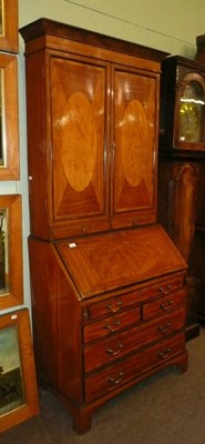
<instances>
[{"instance_id":1,"label":"tall inlaid mahogany bureau bookcase with slant front and drawers","mask_svg":"<svg viewBox=\"0 0 205 444\"><path fill-rule=\"evenodd\" d=\"M156 223L165 53L40 19L25 40L38 373L84 433L106 400L186 370L186 262Z\"/></svg>"}]
</instances>

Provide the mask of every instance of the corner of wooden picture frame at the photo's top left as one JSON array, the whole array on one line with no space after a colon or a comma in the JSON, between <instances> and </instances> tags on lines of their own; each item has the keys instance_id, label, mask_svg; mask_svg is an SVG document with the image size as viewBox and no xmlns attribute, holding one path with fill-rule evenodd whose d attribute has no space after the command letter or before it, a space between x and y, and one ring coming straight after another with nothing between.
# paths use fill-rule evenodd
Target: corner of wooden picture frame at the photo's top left
<instances>
[{"instance_id":1,"label":"corner of wooden picture frame at the photo's top left","mask_svg":"<svg viewBox=\"0 0 205 444\"><path fill-rule=\"evenodd\" d=\"M0 0L0 50L19 51L18 0Z\"/></svg>"}]
</instances>

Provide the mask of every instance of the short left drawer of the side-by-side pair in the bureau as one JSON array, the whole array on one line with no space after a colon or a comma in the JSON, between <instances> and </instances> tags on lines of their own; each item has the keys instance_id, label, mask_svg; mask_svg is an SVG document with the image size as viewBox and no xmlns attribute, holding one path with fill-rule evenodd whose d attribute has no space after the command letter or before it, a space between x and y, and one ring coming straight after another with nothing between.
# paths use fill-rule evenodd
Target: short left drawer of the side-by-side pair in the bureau
<instances>
[{"instance_id":1,"label":"short left drawer of the side-by-side pair in the bureau","mask_svg":"<svg viewBox=\"0 0 205 444\"><path fill-rule=\"evenodd\" d=\"M100 321L86 324L83 327L84 343L107 336L119 330L136 324L140 322L140 306L135 306L132 310L116 313L113 316L103 317Z\"/></svg>"}]
</instances>

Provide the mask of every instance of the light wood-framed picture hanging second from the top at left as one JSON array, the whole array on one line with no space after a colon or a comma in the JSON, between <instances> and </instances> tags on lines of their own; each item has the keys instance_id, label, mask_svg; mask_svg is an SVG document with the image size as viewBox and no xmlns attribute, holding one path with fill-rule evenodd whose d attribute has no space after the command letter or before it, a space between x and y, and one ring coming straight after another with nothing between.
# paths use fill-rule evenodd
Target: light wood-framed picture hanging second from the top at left
<instances>
[{"instance_id":1,"label":"light wood-framed picture hanging second from the top at left","mask_svg":"<svg viewBox=\"0 0 205 444\"><path fill-rule=\"evenodd\" d=\"M19 107L17 56L0 53L0 180L18 179Z\"/></svg>"}]
</instances>

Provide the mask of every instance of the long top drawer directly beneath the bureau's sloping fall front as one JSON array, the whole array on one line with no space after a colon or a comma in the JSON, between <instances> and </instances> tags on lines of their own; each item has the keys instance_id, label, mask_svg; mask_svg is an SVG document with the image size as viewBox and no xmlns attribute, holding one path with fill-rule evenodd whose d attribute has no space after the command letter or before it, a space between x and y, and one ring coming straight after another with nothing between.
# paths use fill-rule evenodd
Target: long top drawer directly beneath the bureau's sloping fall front
<instances>
[{"instance_id":1,"label":"long top drawer directly beneath the bureau's sloping fall front","mask_svg":"<svg viewBox=\"0 0 205 444\"><path fill-rule=\"evenodd\" d=\"M166 295L183 286L183 275L165 279L158 283L153 283L150 286L139 289L135 292L122 294L101 302L90 304L88 306L89 320L99 319L104 315L114 314L123 311L126 307L137 304L147 297L157 297Z\"/></svg>"}]
</instances>

